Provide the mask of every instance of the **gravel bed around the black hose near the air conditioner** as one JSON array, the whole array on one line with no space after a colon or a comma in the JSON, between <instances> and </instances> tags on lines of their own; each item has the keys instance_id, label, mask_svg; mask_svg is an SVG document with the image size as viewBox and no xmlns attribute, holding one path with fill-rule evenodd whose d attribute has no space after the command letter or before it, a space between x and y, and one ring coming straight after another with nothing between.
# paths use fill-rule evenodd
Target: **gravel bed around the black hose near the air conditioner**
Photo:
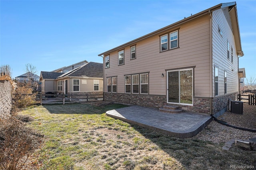
<instances>
[{"instance_id":1,"label":"gravel bed around the black hose near the air conditioner","mask_svg":"<svg viewBox=\"0 0 256 170\"><path fill-rule=\"evenodd\" d=\"M231 113L226 111L223 115L217 118L225 121L229 125L236 127L249 128L256 130L256 106L245 104L243 105L243 114ZM256 132L239 130L236 128L222 125L216 121L212 121L204 130L199 132L193 138L208 140L214 143L228 142L230 139L255 138Z\"/></svg>"}]
</instances>

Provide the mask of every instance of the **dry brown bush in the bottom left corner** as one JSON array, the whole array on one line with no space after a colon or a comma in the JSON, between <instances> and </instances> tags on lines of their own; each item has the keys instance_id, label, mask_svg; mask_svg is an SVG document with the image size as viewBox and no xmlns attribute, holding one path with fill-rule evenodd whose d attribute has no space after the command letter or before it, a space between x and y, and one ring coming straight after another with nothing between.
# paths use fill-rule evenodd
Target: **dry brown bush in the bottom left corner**
<instances>
[{"instance_id":1,"label":"dry brown bush in the bottom left corner","mask_svg":"<svg viewBox=\"0 0 256 170\"><path fill-rule=\"evenodd\" d=\"M21 169L41 137L14 117L0 119L0 169Z\"/></svg>"}]
</instances>

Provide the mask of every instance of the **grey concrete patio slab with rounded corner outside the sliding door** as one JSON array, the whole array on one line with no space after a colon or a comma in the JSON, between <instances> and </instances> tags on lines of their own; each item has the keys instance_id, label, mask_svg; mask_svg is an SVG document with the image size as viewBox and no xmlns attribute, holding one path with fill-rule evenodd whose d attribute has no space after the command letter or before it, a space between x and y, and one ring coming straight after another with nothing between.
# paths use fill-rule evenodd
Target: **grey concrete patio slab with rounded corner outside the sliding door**
<instances>
[{"instance_id":1,"label":"grey concrete patio slab with rounded corner outside the sliding door","mask_svg":"<svg viewBox=\"0 0 256 170\"><path fill-rule=\"evenodd\" d=\"M106 115L178 138L190 138L206 127L212 118L199 113L163 113L156 108L129 106Z\"/></svg>"}]
</instances>

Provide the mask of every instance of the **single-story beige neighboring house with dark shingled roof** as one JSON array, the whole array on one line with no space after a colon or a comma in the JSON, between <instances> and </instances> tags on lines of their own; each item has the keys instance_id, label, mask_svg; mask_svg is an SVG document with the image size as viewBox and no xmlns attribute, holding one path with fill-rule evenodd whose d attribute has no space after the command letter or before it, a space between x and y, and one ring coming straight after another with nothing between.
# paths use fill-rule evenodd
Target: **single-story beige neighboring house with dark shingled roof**
<instances>
[{"instance_id":1,"label":"single-story beige neighboring house with dark shingled roof","mask_svg":"<svg viewBox=\"0 0 256 170\"><path fill-rule=\"evenodd\" d=\"M103 64L89 62L66 73L41 71L42 93L102 94Z\"/></svg>"}]
</instances>

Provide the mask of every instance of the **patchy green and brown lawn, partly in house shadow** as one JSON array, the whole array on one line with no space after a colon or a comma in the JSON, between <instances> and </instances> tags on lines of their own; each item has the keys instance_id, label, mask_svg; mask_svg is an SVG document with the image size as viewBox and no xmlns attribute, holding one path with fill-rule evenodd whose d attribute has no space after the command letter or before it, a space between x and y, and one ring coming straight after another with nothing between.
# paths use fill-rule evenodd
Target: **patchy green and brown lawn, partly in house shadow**
<instances>
[{"instance_id":1,"label":"patchy green and brown lawn, partly in house shadow","mask_svg":"<svg viewBox=\"0 0 256 170\"><path fill-rule=\"evenodd\" d=\"M230 164L254 165L255 151L180 139L106 116L126 107L90 104L28 107L19 114L33 117L28 127L44 134L32 167L42 170L96 169L229 169ZM145 118L146 119L146 118Z\"/></svg>"}]
</instances>

